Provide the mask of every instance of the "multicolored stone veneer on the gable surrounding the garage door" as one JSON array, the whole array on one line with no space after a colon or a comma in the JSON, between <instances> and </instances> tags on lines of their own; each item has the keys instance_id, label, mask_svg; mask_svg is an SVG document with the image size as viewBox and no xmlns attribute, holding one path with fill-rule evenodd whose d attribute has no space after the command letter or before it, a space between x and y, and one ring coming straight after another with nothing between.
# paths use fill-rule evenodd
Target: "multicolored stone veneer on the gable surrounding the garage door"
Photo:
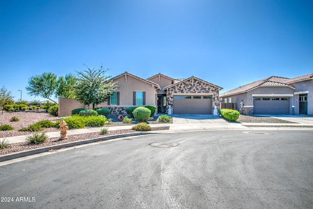
<instances>
[{"instance_id":1,"label":"multicolored stone veneer on the gable surrounding the garage door","mask_svg":"<svg viewBox=\"0 0 313 209\"><path fill-rule=\"evenodd\" d=\"M194 78L194 81L192 82L192 78L185 80L177 85L174 85L173 87L170 87L166 91L166 114L168 114L169 105L171 105L172 114L174 113L174 93L209 93L212 97L212 108L216 106L217 109L220 107L220 101L219 101L219 91L220 89L211 86L207 83L204 83L200 80L197 80L197 78ZM213 113L213 111L212 111Z\"/></svg>"}]
</instances>

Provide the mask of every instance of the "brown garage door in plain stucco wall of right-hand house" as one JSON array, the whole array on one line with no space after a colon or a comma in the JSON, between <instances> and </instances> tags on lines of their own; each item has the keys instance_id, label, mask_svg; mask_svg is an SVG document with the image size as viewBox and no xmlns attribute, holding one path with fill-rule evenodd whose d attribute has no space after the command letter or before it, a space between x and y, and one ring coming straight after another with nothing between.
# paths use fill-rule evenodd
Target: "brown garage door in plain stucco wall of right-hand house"
<instances>
[{"instance_id":1,"label":"brown garage door in plain stucco wall of right-hand house","mask_svg":"<svg viewBox=\"0 0 313 209\"><path fill-rule=\"evenodd\" d=\"M254 97L253 114L289 115L290 97Z\"/></svg>"}]
</instances>

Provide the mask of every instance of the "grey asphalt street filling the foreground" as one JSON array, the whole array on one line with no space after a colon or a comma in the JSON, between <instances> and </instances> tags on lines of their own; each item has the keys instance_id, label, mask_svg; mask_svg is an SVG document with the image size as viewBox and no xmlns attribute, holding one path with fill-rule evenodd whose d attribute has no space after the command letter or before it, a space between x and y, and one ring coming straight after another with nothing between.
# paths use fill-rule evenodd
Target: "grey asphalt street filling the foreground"
<instances>
[{"instance_id":1,"label":"grey asphalt street filling the foreground","mask_svg":"<svg viewBox=\"0 0 313 209\"><path fill-rule=\"evenodd\" d=\"M125 138L0 166L0 208L313 208L313 131Z\"/></svg>"}]
</instances>

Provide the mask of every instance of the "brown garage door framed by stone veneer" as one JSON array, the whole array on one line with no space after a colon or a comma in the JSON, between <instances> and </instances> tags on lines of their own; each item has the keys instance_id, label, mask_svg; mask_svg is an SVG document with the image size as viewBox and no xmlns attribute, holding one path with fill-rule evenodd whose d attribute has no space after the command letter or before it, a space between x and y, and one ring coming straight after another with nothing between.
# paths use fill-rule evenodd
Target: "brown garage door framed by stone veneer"
<instances>
[{"instance_id":1,"label":"brown garage door framed by stone veneer","mask_svg":"<svg viewBox=\"0 0 313 209\"><path fill-rule=\"evenodd\" d=\"M174 96L173 114L212 114L212 98L209 95Z\"/></svg>"}]
</instances>

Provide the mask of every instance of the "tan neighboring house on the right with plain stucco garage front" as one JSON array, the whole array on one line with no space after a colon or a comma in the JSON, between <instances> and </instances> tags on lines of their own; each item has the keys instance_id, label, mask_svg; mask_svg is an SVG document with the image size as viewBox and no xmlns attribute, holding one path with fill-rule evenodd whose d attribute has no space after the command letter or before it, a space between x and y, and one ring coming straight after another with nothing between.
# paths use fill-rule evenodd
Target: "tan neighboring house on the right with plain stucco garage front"
<instances>
[{"instance_id":1,"label":"tan neighboring house on the right with plain stucco garage front","mask_svg":"<svg viewBox=\"0 0 313 209\"><path fill-rule=\"evenodd\" d=\"M295 78L271 76L220 94L242 114L313 115L313 73Z\"/></svg>"}]
</instances>

